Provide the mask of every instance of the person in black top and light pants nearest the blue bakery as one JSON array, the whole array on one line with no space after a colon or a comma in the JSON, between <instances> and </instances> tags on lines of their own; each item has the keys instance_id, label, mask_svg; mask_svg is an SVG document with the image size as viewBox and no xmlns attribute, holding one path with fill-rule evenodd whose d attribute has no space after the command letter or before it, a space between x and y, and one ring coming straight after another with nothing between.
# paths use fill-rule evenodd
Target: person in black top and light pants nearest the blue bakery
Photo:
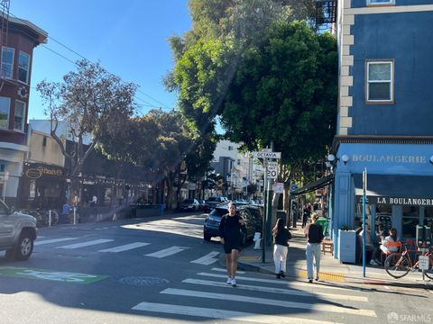
<instances>
[{"instance_id":1,"label":"person in black top and light pants nearest the blue bakery","mask_svg":"<svg viewBox=\"0 0 433 324\"><path fill-rule=\"evenodd\" d=\"M323 229L318 225L318 213L311 214L309 227L306 229L308 243L305 255L307 257L307 271L309 273L309 284L313 282L313 257L316 265L316 281L318 281L318 272L320 270L320 243L322 242Z\"/></svg>"}]
</instances>

